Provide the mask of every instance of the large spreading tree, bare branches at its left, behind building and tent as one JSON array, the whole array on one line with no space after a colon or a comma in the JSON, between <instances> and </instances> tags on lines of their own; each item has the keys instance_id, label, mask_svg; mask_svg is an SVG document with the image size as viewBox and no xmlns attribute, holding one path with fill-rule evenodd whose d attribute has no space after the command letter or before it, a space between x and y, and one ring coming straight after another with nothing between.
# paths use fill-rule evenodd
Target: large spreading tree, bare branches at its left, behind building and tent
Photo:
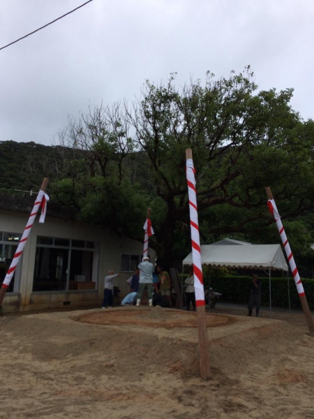
<instances>
[{"instance_id":1,"label":"large spreading tree, bare branches at its left, behind building and tent","mask_svg":"<svg viewBox=\"0 0 314 419\"><path fill-rule=\"evenodd\" d=\"M291 97L292 89L258 91L249 68L218 80L208 73L204 84L190 80L181 88L174 75L159 85L147 81L131 107L101 107L70 123L63 138L84 149L90 164L77 174L77 190L63 183L84 217L139 239L151 206L151 244L170 265L189 240L190 147L203 240L252 231L262 237L272 222L264 186L283 201L288 219L313 209L314 124L292 110Z\"/></svg>"}]
</instances>

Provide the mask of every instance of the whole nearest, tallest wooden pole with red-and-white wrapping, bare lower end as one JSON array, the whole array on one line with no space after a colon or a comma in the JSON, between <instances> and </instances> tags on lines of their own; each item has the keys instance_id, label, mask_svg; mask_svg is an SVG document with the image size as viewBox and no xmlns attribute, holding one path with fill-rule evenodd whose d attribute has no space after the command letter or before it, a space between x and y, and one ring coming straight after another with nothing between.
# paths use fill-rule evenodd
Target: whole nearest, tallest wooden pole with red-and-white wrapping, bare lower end
<instances>
[{"instance_id":1,"label":"whole nearest, tallest wooden pole with red-and-white wrapping, bare lower end","mask_svg":"<svg viewBox=\"0 0 314 419\"><path fill-rule=\"evenodd\" d=\"M209 345L205 312L205 297L200 249L200 231L198 228L195 169L191 149L186 149L186 180L188 182L188 204L190 207L190 234L192 241L192 258L194 272L194 288L197 311L197 328L200 347L200 373L202 378L211 376L209 364Z\"/></svg>"}]
</instances>

